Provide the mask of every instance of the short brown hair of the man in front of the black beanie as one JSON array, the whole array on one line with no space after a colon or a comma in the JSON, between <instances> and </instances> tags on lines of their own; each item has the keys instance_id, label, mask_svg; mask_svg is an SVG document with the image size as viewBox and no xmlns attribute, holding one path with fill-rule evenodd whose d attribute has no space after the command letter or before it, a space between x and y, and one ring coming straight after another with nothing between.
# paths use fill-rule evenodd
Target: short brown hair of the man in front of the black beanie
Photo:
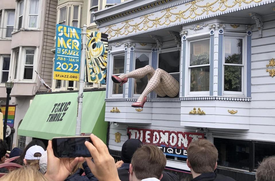
<instances>
[{"instance_id":1,"label":"short brown hair of the man in front of the black beanie","mask_svg":"<svg viewBox=\"0 0 275 181\"><path fill-rule=\"evenodd\" d=\"M131 163L137 179L159 179L166 165L166 158L158 147L144 145L135 151Z\"/></svg>"}]
</instances>

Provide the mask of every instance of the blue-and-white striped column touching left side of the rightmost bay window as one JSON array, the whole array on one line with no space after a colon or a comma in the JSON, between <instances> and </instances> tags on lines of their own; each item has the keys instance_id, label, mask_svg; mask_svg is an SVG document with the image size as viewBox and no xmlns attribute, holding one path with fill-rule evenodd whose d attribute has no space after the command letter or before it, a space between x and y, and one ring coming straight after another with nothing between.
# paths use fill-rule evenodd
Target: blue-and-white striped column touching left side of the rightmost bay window
<instances>
[{"instance_id":1,"label":"blue-and-white striped column touching left side of the rightmost bay window","mask_svg":"<svg viewBox=\"0 0 275 181\"><path fill-rule=\"evenodd\" d=\"M223 94L223 29L219 29L218 96Z\"/></svg>"}]
</instances>

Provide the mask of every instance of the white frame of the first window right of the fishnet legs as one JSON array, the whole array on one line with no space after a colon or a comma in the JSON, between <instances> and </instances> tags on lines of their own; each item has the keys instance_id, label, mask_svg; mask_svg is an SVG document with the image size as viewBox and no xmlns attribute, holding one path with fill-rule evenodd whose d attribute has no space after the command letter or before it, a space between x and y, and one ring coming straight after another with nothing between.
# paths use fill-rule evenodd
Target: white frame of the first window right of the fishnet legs
<instances>
[{"instance_id":1,"label":"white frame of the first window right of the fishnet legs","mask_svg":"<svg viewBox=\"0 0 275 181\"><path fill-rule=\"evenodd\" d=\"M196 37L196 39L192 39L190 41L188 41L188 51L187 51L187 54L188 56L187 59L186 59L186 67L188 67L188 76L187 76L187 88L188 88L188 95L187 97L193 97L194 95L200 95L200 96L209 96L210 94L210 81L209 81L209 90L208 91L190 91L190 79L191 79L191 68L194 68L194 67L206 67L206 66L209 66L210 68L210 56L209 56L209 63L208 64L204 64L204 65L198 65L198 66L190 66L190 50L191 50L191 46L190 46L190 43L192 42L196 42L196 41L202 41L202 40L209 40L209 55L210 55L210 36L209 37L205 37L205 38L200 38L200 36ZM210 79L210 77L209 77Z\"/></svg>"}]
</instances>

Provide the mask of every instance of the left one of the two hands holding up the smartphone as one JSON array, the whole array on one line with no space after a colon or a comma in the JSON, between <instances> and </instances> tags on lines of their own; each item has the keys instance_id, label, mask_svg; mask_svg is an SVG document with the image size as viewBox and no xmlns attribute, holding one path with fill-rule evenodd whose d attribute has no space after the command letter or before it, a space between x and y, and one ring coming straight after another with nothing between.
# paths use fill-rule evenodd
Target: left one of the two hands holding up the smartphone
<instances>
[{"instance_id":1,"label":"left one of the two hands holding up the smartphone","mask_svg":"<svg viewBox=\"0 0 275 181\"><path fill-rule=\"evenodd\" d=\"M83 157L57 158L53 154L52 141L49 140L47 147L48 165L44 175L48 180L63 181L72 172L75 165L84 161Z\"/></svg>"}]
</instances>

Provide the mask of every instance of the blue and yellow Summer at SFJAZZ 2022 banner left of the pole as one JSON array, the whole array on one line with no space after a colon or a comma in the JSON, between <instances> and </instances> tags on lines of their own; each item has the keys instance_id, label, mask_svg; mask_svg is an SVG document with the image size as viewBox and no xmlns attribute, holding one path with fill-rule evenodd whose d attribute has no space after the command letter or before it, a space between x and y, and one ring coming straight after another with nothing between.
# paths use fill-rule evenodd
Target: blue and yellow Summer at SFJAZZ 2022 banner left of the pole
<instances>
[{"instance_id":1,"label":"blue and yellow Summer at SFJAZZ 2022 banner left of the pole","mask_svg":"<svg viewBox=\"0 0 275 181\"><path fill-rule=\"evenodd\" d=\"M54 79L79 81L81 29L56 24Z\"/></svg>"}]
</instances>

